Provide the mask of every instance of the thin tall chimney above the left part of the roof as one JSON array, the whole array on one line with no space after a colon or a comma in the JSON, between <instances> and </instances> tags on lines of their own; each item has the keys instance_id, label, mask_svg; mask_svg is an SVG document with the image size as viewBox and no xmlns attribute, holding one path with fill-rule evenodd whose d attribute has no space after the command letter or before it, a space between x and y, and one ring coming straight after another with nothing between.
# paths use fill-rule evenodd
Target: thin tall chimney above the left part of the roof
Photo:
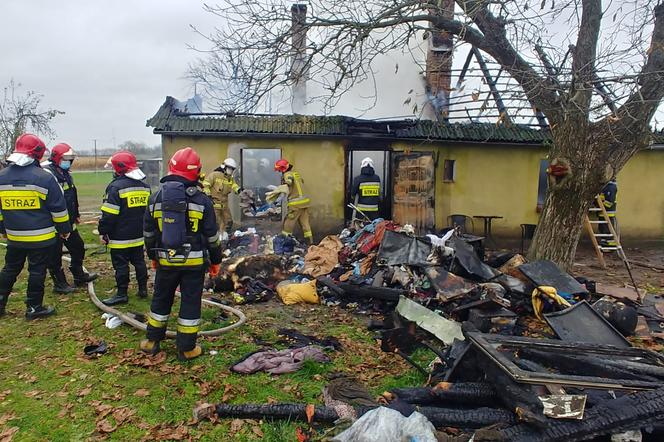
<instances>
[{"instance_id":1,"label":"thin tall chimney above the left part of the roof","mask_svg":"<svg viewBox=\"0 0 664 442\"><path fill-rule=\"evenodd\" d=\"M307 102L307 5L291 6L291 106L294 114L304 114Z\"/></svg>"}]
</instances>

